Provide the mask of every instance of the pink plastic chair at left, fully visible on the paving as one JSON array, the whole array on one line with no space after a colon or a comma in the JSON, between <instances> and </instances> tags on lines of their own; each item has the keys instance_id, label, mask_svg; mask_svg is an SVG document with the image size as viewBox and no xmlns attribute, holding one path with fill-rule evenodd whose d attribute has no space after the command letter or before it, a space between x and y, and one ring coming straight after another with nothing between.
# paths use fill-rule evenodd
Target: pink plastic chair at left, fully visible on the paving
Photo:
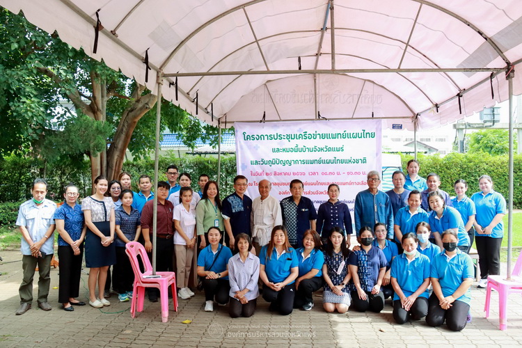
<instances>
[{"instance_id":1,"label":"pink plastic chair at left, fully visible on the paving","mask_svg":"<svg viewBox=\"0 0 522 348\"><path fill-rule=\"evenodd\" d=\"M125 245L125 253L129 255L134 271L134 296L131 302L131 317L136 316L136 310L143 312L143 300L145 299L145 287L155 287L159 289L161 299L161 322L168 321L168 287L172 287L172 299L174 310L177 312L176 276L174 272L156 272L161 278L144 278L152 274L152 265L143 245L138 242L130 242ZM138 257L145 267L142 273Z\"/></svg>"}]
</instances>

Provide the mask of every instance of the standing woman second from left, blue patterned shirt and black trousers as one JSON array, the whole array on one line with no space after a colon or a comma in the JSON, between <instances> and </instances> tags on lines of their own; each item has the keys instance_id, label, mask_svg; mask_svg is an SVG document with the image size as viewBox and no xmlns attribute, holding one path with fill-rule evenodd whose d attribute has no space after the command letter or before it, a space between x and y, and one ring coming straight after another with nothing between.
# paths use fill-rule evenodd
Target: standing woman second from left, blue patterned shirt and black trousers
<instances>
[{"instance_id":1,"label":"standing woman second from left, blue patterned shirt and black trousers","mask_svg":"<svg viewBox=\"0 0 522 348\"><path fill-rule=\"evenodd\" d=\"M75 299L80 292L81 261L84 258L84 238L87 232L84 212L76 203L78 195L78 187L69 184L63 193L65 203L54 212L60 259L58 302L62 303L63 310L67 312L74 310L72 306L85 306L84 302Z\"/></svg>"}]
</instances>

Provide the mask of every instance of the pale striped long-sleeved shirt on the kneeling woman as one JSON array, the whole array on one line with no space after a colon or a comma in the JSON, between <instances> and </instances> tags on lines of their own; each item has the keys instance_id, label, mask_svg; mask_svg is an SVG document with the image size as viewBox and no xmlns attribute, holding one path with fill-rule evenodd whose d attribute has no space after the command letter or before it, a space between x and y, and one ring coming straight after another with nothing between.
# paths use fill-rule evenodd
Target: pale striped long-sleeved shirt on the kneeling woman
<instances>
[{"instance_id":1,"label":"pale striped long-sleeved shirt on the kneeling woman","mask_svg":"<svg viewBox=\"0 0 522 348\"><path fill-rule=\"evenodd\" d=\"M259 296L259 264L257 256L248 253L245 262L241 260L239 253L228 260L228 280L230 281L230 297L234 297L236 292L248 289L245 294L248 301L257 299ZM238 300L239 301L239 300Z\"/></svg>"}]
</instances>

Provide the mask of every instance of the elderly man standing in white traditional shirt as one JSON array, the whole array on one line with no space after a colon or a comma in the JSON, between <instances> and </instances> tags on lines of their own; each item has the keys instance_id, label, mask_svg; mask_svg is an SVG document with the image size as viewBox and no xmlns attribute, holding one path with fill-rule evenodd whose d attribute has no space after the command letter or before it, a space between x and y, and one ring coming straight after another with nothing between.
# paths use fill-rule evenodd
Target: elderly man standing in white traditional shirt
<instances>
[{"instance_id":1,"label":"elderly man standing in white traditional shirt","mask_svg":"<svg viewBox=\"0 0 522 348\"><path fill-rule=\"evenodd\" d=\"M268 180L259 182L259 194L252 202L252 237L255 253L259 255L261 247L270 242L274 226L283 224L279 201L270 196L272 184Z\"/></svg>"}]
</instances>

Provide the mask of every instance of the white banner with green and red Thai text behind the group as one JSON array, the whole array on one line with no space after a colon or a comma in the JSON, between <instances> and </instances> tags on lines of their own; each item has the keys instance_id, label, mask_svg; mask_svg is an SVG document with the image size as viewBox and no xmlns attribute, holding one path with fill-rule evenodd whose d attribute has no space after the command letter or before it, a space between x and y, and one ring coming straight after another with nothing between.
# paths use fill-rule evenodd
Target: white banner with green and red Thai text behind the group
<instances>
[{"instance_id":1,"label":"white banner with green and red Thai text behind the group","mask_svg":"<svg viewBox=\"0 0 522 348\"><path fill-rule=\"evenodd\" d=\"M303 196L315 207L328 200L328 186L354 209L367 189L366 175L381 173L381 120L235 122L237 173L248 178L247 194L259 196L258 183L272 183L271 195L290 196L290 181L303 182ZM352 213L353 219L353 213Z\"/></svg>"}]
</instances>

